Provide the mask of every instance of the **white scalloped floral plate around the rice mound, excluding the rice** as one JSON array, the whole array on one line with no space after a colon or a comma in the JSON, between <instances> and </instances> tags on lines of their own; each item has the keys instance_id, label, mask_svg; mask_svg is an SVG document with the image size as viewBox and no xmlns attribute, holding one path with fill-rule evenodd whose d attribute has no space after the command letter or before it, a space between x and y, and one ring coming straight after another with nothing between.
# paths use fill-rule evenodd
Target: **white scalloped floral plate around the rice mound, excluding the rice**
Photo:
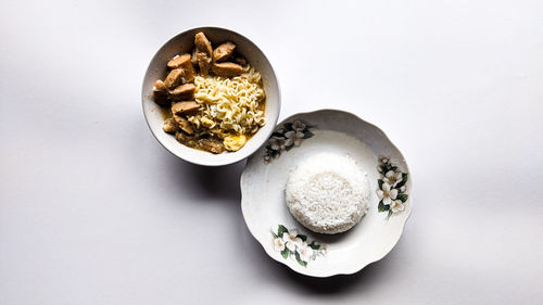
<instances>
[{"instance_id":1,"label":"white scalloped floral plate around the rice mound, excluding the rice","mask_svg":"<svg viewBox=\"0 0 543 305\"><path fill-rule=\"evenodd\" d=\"M310 231L285 202L289 171L319 152L350 155L369 179L369 209L344 233ZM412 211L412 180L400 151L376 126L337 110L301 113L280 123L248 160L241 192L245 224L266 253L313 277L354 274L381 259L396 244Z\"/></svg>"}]
</instances>

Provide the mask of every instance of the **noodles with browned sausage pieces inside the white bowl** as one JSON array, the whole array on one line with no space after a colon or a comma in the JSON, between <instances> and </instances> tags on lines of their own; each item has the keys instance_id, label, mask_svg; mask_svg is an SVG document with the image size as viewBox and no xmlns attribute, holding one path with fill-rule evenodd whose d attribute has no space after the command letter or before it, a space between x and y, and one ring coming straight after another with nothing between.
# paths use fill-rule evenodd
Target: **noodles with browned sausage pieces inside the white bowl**
<instances>
[{"instance_id":1,"label":"noodles with browned sausage pieces inside the white bowl","mask_svg":"<svg viewBox=\"0 0 543 305\"><path fill-rule=\"evenodd\" d=\"M231 41L213 49L203 33L191 54L167 63L153 100L164 110L163 130L180 143L219 154L236 152L266 124L266 94L261 74Z\"/></svg>"}]
</instances>

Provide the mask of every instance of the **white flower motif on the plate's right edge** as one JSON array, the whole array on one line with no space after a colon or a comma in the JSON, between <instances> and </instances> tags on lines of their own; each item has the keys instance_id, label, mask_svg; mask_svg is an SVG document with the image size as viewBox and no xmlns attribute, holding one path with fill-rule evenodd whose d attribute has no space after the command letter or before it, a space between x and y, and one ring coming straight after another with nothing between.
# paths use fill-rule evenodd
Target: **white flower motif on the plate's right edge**
<instances>
[{"instance_id":1,"label":"white flower motif on the plate's right edge","mask_svg":"<svg viewBox=\"0 0 543 305\"><path fill-rule=\"evenodd\" d=\"M402 173L396 165L390 162L390 157L380 156L377 171L380 179L377 180L379 188L377 196L379 198L379 212L388 212L387 219L393 214L405 209L405 202L409 196L406 193L407 173Z\"/></svg>"}]
</instances>

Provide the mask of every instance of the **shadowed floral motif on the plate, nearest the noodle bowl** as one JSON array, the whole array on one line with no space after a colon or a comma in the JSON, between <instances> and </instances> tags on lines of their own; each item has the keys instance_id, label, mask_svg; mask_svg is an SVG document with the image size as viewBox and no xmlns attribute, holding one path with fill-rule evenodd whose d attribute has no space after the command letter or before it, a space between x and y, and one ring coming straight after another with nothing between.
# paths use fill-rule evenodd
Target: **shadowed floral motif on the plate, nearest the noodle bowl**
<instances>
[{"instance_id":1,"label":"shadowed floral motif on the plate, nearest the noodle bowl","mask_svg":"<svg viewBox=\"0 0 543 305\"><path fill-rule=\"evenodd\" d=\"M315 136L310 131L310 126L302 120L294 120L292 123L285 123L282 126L272 134L268 142L266 143L266 153L264 154L264 162L269 163L273 158L279 157L282 152L290 151L294 147L299 147L302 140Z\"/></svg>"}]
</instances>

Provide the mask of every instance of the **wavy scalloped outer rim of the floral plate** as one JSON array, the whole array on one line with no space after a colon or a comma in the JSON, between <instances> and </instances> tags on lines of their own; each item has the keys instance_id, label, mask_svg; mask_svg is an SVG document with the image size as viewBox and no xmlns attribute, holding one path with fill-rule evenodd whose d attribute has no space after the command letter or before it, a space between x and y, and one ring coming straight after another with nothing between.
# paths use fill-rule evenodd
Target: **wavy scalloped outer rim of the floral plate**
<instances>
[{"instance_id":1,"label":"wavy scalloped outer rim of the floral plate","mask_svg":"<svg viewBox=\"0 0 543 305\"><path fill-rule=\"evenodd\" d=\"M300 113L294 113L294 114L291 114L289 115L288 117L283 118L279 125L286 123L286 122L289 122L290 119L292 119L293 117L295 116L301 116L301 115L307 115L307 114L313 114L313 113L318 113L318 112L337 112L337 113L341 113L341 114L344 114L344 115L350 115L350 116L353 116L355 117L356 119L359 119L366 124L368 124L371 128L376 128L378 131L380 131L384 139L387 141L390 142L390 144L392 145L393 149L395 149L399 154L402 156L402 160L405 164L405 169L407 170L407 173L409 173L409 176L412 176L409 178L409 205L411 205L411 208L406 215L406 217L403 219L402 224L401 224L401 228L400 228L400 233L397 236L397 239L394 241L394 244L390 247L389 251L384 252L382 255L376 257L375 259L371 259L370 262L364 262L362 264L353 264L351 265L352 267L351 268L344 268L342 270L338 270L338 271L332 271L332 272L323 272L323 274L312 274L310 271L310 269L295 269L293 268L291 265L289 265L287 263L287 260L285 259L279 259L279 257L277 257L276 255L273 255L272 253L272 250L269 249L269 246L266 246L264 244L264 241L262 241L258 237L257 237L257 233L253 230L253 228L251 226L249 226L249 224L247 224L247 218L249 217L248 216L248 211L245 211L245 203L244 201L247 201L247 195L244 195L244 192L243 192L243 189L244 189L244 183L245 183L245 169L248 168L249 166L249 160L248 160L248 163L245 163L245 167L243 169L243 173L241 174L241 178L240 178L240 190L241 190L241 214L243 216L243 220L245 223L245 226L247 228L249 229L249 231L251 232L251 236L258 242L258 244L262 246L262 249L264 250L264 252L270 257L273 258L274 260L280 263L281 265L285 265L287 267L289 267L289 269L291 269L292 271L296 272L296 274L300 274L300 275L303 275L303 276L307 276L307 277L313 277L313 278L329 278L329 277L334 277L334 276L349 276L349 275L354 275L358 271L361 271L362 269L364 269L365 267L367 267L368 265L370 264L374 264L376 262L379 262L381 260L384 256L387 256L389 253L391 253L394 247L397 245L397 242L400 241L400 239L402 238L403 233L404 233L404 230L405 230L405 225L407 223L407 220L411 218L411 215L413 213L413 174L408 167L408 164L407 164L407 161L405 160L403 153L400 151L400 149L397 149L397 147L394 144L394 142L391 141L391 139L387 136L387 134L384 131L382 131L381 128L379 128L377 125L368 122L368 120L365 120L363 119L362 117L359 117L358 115L352 113L352 112L349 112L349 111L343 111L343 110L337 110L337 109L319 109L319 110L315 110L315 111L308 111L308 112L300 112Z\"/></svg>"}]
</instances>

